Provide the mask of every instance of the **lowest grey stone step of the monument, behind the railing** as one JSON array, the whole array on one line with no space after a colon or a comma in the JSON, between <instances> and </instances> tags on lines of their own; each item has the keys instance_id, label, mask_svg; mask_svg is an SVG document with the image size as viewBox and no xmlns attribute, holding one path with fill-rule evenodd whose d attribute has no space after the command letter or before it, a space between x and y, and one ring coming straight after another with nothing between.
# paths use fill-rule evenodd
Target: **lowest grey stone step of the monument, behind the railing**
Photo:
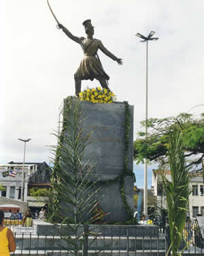
<instances>
[{"instance_id":1,"label":"lowest grey stone step of the monument, behind the railing","mask_svg":"<svg viewBox=\"0 0 204 256\"><path fill-rule=\"evenodd\" d=\"M139 251L139 250L165 250L165 236L161 235L159 237L125 237L125 236L113 236L113 237L98 237L97 240L93 242L95 238L92 236L88 237L88 248L90 250L126 250L129 251ZM36 248L40 250L63 250L67 248L67 242L61 240L59 236L37 236L37 235L24 235L23 237L16 236L16 248L18 250L35 250Z\"/></svg>"}]
</instances>

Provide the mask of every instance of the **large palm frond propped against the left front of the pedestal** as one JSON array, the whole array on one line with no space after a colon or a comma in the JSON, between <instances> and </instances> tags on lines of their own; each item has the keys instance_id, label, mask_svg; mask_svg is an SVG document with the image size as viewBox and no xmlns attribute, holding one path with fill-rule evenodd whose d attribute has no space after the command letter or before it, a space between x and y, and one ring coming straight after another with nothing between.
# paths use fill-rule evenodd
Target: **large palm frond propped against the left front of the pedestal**
<instances>
[{"instance_id":1,"label":"large palm frond propped against the left front of the pedestal","mask_svg":"<svg viewBox=\"0 0 204 256\"><path fill-rule=\"evenodd\" d=\"M66 249L73 255L79 255L87 234L92 231L83 227L104 215L93 213L99 203L100 188L96 186L98 180L90 182L92 165L82 160L91 134L85 134L83 130L78 98L67 98L63 117L61 135L56 134L58 145L53 146L54 167L48 220L63 225L59 231L61 238L69 244Z\"/></svg>"}]
</instances>

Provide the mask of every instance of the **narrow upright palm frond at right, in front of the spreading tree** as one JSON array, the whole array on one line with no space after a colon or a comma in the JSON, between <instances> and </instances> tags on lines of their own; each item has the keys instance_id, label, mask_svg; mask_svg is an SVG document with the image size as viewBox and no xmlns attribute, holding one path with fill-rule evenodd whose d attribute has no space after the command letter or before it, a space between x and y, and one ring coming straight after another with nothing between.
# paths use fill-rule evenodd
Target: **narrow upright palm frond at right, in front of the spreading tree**
<instances>
[{"instance_id":1,"label":"narrow upright palm frond at right, in front of the spreading tree","mask_svg":"<svg viewBox=\"0 0 204 256\"><path fill-rule=\"evenodd\" d=\"M167 147L171 180L167 180L165 174L162 175L173 256L176 256L179 250L188 211L188 197L191 193L190 173L186 168L183 144L182 132L173 130Z\"/></svg>"}]
</instances>

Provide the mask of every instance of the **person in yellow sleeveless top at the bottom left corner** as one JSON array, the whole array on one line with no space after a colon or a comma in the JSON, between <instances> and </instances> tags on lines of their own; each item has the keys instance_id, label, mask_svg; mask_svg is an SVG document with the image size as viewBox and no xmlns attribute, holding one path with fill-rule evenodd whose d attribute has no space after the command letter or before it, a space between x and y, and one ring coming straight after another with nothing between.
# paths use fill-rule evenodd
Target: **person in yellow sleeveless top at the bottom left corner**
<instances>
[{"instance_id":1,"label":"person in yellow sleeveless top at the bottom left corner","mask_svg":"<svg viewBox=\"0 0 204 256\"><path fill-rule=\"evenodd\" d=\"M16 242L11 229L3 224L4 213L0 210L0 256L10 256L10 252L16 251Z\"/></svg>"}]
</instances>

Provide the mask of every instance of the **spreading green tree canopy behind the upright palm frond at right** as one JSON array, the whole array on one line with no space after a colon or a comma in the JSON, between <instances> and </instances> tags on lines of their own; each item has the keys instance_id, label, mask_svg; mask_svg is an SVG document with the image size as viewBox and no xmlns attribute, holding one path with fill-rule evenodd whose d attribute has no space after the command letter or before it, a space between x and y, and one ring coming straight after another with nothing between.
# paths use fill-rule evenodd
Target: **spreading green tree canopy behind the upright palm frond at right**
<instances>
[{"instance_id":1,"label":"spreading green tree canopy behind the upright palm frond at right","mask_svg":"<svg viewBox=\"0 0 204 256\"><path fill-rule=\"evenodd\" d=\"M182 145L186 158L186 167L192 171L201 171L204 159L204 113L198 119L191 114L180 113L175 117L163 119L151 118L141 122L148 126L148 133L139 132L134 141L134 159L137 163L146 158L158 163L159 167L167 163L169 138L173 130L182 131Z\"/></svg>"}]
</instances>

